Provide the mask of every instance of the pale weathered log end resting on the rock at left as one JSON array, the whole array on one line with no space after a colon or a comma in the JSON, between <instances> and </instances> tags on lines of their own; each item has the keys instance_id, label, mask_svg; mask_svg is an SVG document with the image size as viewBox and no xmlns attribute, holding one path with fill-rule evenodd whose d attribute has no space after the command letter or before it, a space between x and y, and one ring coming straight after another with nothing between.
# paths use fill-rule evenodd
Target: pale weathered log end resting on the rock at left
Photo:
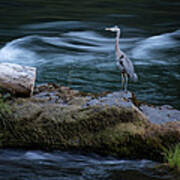
<instances>
[{"instance_id":1,"label":"pale weathered log end resting on the rock at left","mask_svg":"<svg viewBox=\"0 0 180 180\"><path fill-rule=\"evenodd\" d=\"M36 79L36 68L11 63L0 63L0 88L17 96L31 96Z\"/></svg>"}]
</instances>

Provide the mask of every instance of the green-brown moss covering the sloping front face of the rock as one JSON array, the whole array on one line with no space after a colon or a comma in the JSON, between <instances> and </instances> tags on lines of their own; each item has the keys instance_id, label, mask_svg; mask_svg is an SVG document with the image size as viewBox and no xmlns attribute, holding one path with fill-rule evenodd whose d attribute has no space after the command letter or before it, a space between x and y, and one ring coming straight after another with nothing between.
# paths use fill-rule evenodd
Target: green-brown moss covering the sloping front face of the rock
<instances>
[{"instance_id":1,"label":"green-brown moss covering the sloping front face of the rock","mask_svg":"<svg viewBox=\"0 0 180 180\"><path fill-rule=\"evenodd\" d=\"M82 108L84 100L79 103L79 98L69 102L62 106L37 99L16 99L8 118L11 126L0 127L0 147L77 149L157 160L164 137L165 143L169 143L170 130L171 141L179 137L174 127L151 124L135 108L108 105Z\"/></svg>"}]
</instances>

